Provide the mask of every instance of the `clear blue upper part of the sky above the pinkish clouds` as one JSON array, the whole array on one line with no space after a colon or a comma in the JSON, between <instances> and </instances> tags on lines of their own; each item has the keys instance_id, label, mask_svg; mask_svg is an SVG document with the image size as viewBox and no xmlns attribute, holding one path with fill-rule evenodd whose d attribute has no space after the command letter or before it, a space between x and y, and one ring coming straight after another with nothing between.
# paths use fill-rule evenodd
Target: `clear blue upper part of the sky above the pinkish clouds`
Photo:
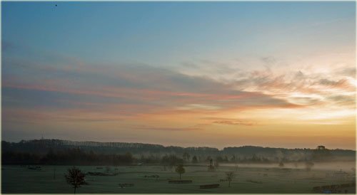
<instances>
[{"instance_id":1,"label":"clear blue upper part of the sky above the pinkish clouds","mask_svg":"<svg viewBox=\"0 0 357 195\"><path fill-rule=\"evenodd\" d=\"M271 55L355 17L354 2L4 2L3 40L89 62L177 65ZM338 23L338 22L337 22ZM350 25L350 23L348 23ZM320 26L315 29L314 26ZM320 37L312 47L336 45ZM341 40L338 39L338 44ZM308 47L306 49L309 49Z\"/></svg>"}]
</instances>

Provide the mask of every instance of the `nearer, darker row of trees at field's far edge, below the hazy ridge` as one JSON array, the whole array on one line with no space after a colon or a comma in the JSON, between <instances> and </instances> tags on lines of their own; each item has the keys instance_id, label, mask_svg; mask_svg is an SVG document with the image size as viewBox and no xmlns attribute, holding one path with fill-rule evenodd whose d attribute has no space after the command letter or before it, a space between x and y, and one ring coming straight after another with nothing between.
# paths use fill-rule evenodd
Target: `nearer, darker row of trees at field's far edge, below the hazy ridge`
<instances>
[{"instance_id":1,"label":"nearer, darker row of trees at field's far edge, below the hazy ridge","mask_svg":"<svg viewBox=\"0 0 357 195\"><path fill-rule=\"evenodd\" d=\"M331 157L331 154L326 152L316 152L314 157ZM2 153L2 164L78 164L78 165L121 165L132 163L144 164L164 164L174 166L183 163L207 163L211 159L216 163L275 163L275 162L306 162L307 159L293 161L286 157L267 159L252 154L251 157L236 157L235 155L217 155L211 156L191 156L187 152L182 155L164 154L164 155L141 155L135 157L130 152L124 154L106 154L89 151L83 149L71 148L64 150L49 149L46 154L30 153L30 152L14 152L7 151Z\"/></svg>"}]
</instances>

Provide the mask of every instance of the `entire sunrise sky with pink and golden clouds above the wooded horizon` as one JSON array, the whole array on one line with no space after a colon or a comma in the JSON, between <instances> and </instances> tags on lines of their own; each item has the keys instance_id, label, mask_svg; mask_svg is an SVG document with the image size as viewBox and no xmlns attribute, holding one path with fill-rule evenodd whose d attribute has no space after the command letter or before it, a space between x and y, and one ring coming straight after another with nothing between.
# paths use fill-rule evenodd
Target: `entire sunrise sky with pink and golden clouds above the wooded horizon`
<instances>
[{"instance_id":1,"label":"entire sunrise sky with pink and golden clouds above the wooded horizon","mask_svg":"<svg viewBox=\"0 0 357 195\"><path fill-rule=\"evenodd\" d=\"M356 149L356 83L354 1L1 2L6 141Z\"/></svg>"}]
</instances>

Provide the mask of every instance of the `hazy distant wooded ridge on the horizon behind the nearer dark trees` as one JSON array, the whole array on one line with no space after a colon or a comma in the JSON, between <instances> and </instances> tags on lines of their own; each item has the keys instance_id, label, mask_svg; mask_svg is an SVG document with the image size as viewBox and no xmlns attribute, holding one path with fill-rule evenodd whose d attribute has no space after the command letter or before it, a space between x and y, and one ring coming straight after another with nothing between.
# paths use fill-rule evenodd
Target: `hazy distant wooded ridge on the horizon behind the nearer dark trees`
<instances>
[{"instance_id":1,"label":"hazy distant wooded ridge on the horizon behind the nearer dark trees","mask_svg":"<svg viewBox=\"0 0 357 195\"><path fill-rule=\"evenodd\" d=\"M79 147L81 152L93 154L119 154L119 156L130 152L134 162L146 164L159 164L162 158L170 154L176 155L184 163L206 163L213 159L218 163L276 163L276 162L314 162L333 160L354 160L356 152L353 150L326 149L319 146L317 149L283 149L268 147L226 147L222 150L208 147L164 147L157 144L122 143L122 142L70 142L59 139L38 139L14 142L1 142L1 153L21 162L27 159L31 162L39 162L49 151L56 153L62 159L66 159L68 150ZM61 154L57 154L60 152ZM88 156L88 155L85 155ZM93 155L92 155L93 156ZM31 160L30 160L31 159ZM47 160L48 161L48 160ZM42 162L47 162L42 159ZM107 160L106 160L107 161ZM42 163L41 162L41 163ZM51 163L51 162L49 162Z\"/></svg>"}]
</instances>

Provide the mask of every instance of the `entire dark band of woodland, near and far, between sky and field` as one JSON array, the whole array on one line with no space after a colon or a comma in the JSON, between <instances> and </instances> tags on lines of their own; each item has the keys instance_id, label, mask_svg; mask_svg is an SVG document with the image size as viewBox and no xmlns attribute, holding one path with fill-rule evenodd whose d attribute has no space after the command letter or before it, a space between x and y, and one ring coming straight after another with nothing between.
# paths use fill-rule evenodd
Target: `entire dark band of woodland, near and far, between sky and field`
<instances>
[{"instance_id":1,"label":"entire dark band of woodland, near and far, between sky and field","mask_svg":"<svg viewBox=\"0 0 357 195\"><path fill-rule=\"evenodd\" d=\"M208 163L276 163L322 162L354 160L356 151L341 149L279 149L263 147L212 148L143 147L146 144L94 142L87 146L64 146L58 139L39 139L26 142L1 142L2 164L166 164ZM72 142L71 142L72 143ZM73 142L72 144L76 144ZM81 144L81 142L79 142ZM125 146L124 148L107 147ZM150 145L150 144L147 144ZM90 147L89 147L90 146ZM131 147L131 148L129 148ZM155 148L155 149L154 149ZM159 149L159 152L158 150Z\"/></svg>"}]
</instances>

